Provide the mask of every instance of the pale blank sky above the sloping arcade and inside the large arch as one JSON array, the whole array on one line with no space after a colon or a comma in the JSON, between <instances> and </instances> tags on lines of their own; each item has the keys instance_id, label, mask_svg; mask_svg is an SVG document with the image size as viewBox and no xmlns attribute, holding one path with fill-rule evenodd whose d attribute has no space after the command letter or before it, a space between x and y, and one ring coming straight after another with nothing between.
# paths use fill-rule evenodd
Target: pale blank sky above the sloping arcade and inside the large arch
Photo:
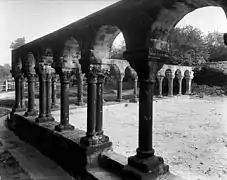
<instances>
[{"instance_id":1,"label":"pale blank sky above the sloping arcade and inside the large arch","mask_svg":"<svg viewBox=\"0 0 227 180\"><path fill-rule=\"evenodd\" d=\"M60 29L118 0L0 0L0 64L11 64L11 42L26 42ZM191 24L203 32L227 32L224 11L201 8L185 16L177 26ZM118 38L120 39L120 38Z\"/></svg>"}]
</instances>

